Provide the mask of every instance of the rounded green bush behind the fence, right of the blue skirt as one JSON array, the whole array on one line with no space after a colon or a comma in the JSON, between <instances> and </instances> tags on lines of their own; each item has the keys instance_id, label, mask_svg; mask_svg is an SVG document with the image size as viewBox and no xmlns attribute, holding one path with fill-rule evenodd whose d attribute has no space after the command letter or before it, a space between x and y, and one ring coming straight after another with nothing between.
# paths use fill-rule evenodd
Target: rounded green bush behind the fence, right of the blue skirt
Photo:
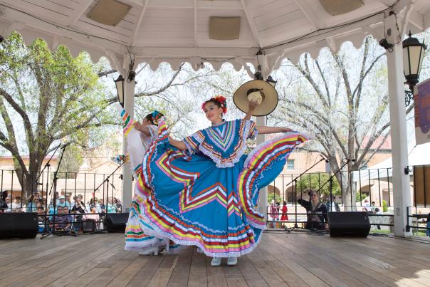
<instances>
[{"instance_id":1,"label":"rounded green bush behind the fence, right of the blue skirt","mask_svg":"<svg viewBox=\"0 0 430 287\"><path fill-rule=\"evenodd\" d=\"M297 192L300 193L301 190L308 188L314 189L315 191L321 188L320 192L322 195L329 195L330 183L327 182L329 178L329 174L327 173L305 174L303 177L300 177L297 182ZM332 178L332 194L341 194L340 185L336 177Z\"/></svg>"}]
</instances>

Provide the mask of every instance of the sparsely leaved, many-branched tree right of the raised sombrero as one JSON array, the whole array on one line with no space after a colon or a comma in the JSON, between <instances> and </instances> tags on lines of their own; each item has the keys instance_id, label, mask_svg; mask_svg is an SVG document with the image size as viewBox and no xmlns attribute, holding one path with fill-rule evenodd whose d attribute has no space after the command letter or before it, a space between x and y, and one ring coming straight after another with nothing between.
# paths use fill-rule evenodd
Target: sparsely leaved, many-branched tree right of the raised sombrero
<instances>
[{"instance_id":1,"label":"sparsely leaved, many-branched tree right of the raised sombrero","mask_svg":"<svg viewBox=\"0 0 430 287\"><path fill-rule=\"evenodd\" d=\"M344 45L339 52L325 48L316 59L306 53L280 73L288 85L273 118L313 134L318 144L307 149L324 155L333 172L345 164L337 182L344 205L354 207L352 171L367 165L389 136L385 51L367 37L358 51Z\"/></svg>"}]
</instances>

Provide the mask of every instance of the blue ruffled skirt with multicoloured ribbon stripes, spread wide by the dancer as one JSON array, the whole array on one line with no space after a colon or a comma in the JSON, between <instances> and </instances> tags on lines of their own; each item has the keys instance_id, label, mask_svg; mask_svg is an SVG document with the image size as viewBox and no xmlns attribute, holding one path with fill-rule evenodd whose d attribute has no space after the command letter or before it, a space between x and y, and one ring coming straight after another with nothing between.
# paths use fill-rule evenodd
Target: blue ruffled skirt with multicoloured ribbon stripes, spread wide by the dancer
<instances>
[{"instance_id":1,"label":"blue ruffled skirt with multicoloured ribbon stripes, spread wide by the dancer","mask_svg":"<svg viewBox=\"0 0 430 287\"><path fill-rule=\"evenodd\" d=\"M288 132L258 145L233 166L216 167L201 153L169 145L166 127L145 153L133 212L146 235L199 247L206 256L251 252L266 229L258 191L280 174L293 149L307 140ZM148 239L149 240L149 239Z\"/></svg>"}]
</instances>

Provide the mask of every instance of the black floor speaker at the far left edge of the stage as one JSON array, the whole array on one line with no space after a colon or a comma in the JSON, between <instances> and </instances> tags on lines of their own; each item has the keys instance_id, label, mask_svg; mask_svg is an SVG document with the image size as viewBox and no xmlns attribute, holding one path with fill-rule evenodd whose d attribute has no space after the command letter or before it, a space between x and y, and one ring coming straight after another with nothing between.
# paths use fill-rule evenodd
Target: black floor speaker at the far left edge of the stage
<instances>
[{"instance_id":1,"label":"black floor speaker at the far left edge of the stage","mask_svg":"<svg viewBox=\"0 0 430 287\"><path fill-rule=\"evenodd\" d=\"M37 213L0 213L0 239L36 238L38 228Z\"/></svg>"}]
</instances>

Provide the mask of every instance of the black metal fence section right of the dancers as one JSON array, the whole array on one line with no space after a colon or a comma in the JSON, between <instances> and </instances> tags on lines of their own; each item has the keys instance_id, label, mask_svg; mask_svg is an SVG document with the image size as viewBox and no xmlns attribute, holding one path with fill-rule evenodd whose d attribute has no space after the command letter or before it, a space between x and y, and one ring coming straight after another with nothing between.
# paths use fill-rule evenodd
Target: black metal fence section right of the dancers
<instances>
[{"instance_id":1,"label":"black metal fence section right of the dancers","mask_svg":"<svg viewBox=\"0 0 430 287\"><path fill-rule=\"evenodd\" d=\"M365 211L369 214L372 226L394 226L393 194L396 188L392 185L392 168L365 169L352 173L347 191L351 194L345 202L342 194L342 179L347 179L347 172L342 172L340 182L332 172L315 172L307 174L280 174L268 186L267 221L269 227L305 226L309 212L302 207L299 199L310 202L310 197L303 191L318 191L320 205L325 205L326 212ZM424 226L430 212L430 165L409 167L411 181L411 199L420 214L411 212L408 207L409 222L417 229L429 230ZM344 189L345 190L345 189ZM331 200L330 200L331 199ZM285 207L284 207L285 206ZM285 210L286 209L286 210ZM324 212L323 212L323 215ZM430 220L430 219L429 219ZM416 224L416 223L419 224Z\"/></svg>"}]
</instances>

